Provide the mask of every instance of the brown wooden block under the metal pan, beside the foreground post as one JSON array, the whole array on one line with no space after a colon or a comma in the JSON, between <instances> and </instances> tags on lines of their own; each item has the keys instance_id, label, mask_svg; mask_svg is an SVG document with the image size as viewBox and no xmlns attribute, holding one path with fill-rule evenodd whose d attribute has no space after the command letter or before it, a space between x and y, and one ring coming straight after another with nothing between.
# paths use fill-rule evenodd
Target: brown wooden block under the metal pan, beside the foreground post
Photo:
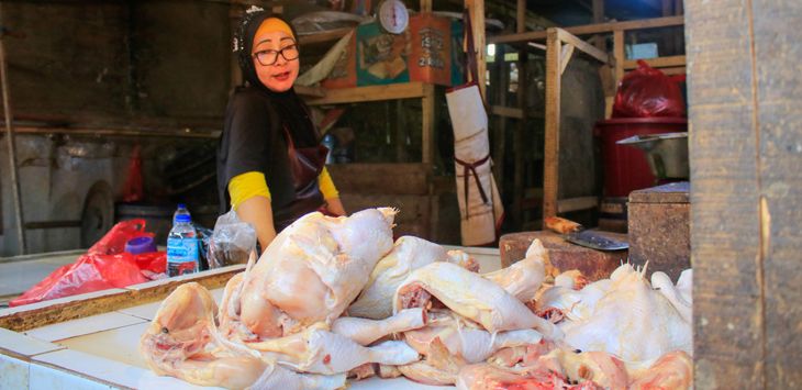
<instances>
[{"instance_id":1,"label":"brown wooden block under the metal pan, beside the foreground post","mask_svg":"<svg viewBox=\"0 0 802 390\"><path fill-rule=\"evenodd\" d=\"M648 261L648 275L664 271L676 281L691 267L689 192L683 181L630 193L630 261Z\"/></svg>"}]
</instances>

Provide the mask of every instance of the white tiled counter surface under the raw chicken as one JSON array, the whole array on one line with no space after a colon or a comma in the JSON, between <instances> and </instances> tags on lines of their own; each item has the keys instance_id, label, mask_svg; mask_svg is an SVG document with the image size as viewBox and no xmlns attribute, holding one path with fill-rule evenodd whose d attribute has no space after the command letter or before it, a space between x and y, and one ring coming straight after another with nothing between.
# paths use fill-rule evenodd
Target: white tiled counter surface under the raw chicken
<instances>
[{"instance_id":1,"label":"white tiled counter surface under the raw chicken","mask_svg":"<svg viewBox=\"0 0 802 390\"><path fill-rule=\"evenodd\" d=\"M500 267L498 249L459 248L470 253L483 272ZM200 275L200 274L199 274ZM140 291L160 281L132 286ZM123 291L124 291L123 290ZM120 290L65 298L78 300ZM223 289L212 290L220 302ZM35 305L44 305L37 303ZM138 353L140 337L153 320L160 302L113 310L82 319L49 324L24 332L0 327L0 390L4 389L211 389L190 385L151 371ZM24 307L23 307L24 308ZM0 316L9 311L5 309ZM349 389L446 389L412 382L405 378L369 378L349 382Z\"/></svg>"}]
</instances>

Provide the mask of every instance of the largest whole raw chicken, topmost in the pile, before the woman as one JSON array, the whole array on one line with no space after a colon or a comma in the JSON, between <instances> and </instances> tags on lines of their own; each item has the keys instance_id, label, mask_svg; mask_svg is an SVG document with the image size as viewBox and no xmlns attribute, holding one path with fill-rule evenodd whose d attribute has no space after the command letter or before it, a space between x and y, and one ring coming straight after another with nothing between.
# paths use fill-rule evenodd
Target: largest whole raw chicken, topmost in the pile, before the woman
<instances>
[{"instance_id":1,"label":"largest whole raw chicken, topmost in the pile, before the woman","mask_svg":"<svg viewBox=\"0 0 802 390\"><path fill-rule=\"evenodd\" d=\"M368 209L348 218L314 212L292 223L241 281L230 281L242 286L226 287L232 292L226 298L237 301L223 302L227 335L264 339L320 321L331 324L391 249L396 212Z\"/></svg>"}]
</instances>

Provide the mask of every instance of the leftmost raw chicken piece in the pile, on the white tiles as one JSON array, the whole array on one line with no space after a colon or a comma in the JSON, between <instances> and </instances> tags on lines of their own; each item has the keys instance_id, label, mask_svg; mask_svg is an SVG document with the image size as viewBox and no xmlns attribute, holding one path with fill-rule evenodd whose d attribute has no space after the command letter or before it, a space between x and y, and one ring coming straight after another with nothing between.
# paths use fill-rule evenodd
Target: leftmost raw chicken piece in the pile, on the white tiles
<instances>
[{"instance_id":1,"label":"leftmost raw chicken piece in the pile, on the white tiles","mask_svg":"<svg viewBox=\"0 0 802 390\"><path fill-rule=\"evenodd\" d=\"M201 386L229 389L259 388L258 383L285 383L285 389L336 389L345 376L299 375L237 353L219 343L214 334L212 296L198 283L179 286L167 297L140 339L140 353L158 375Z\"/></svg>"}]
</instances>

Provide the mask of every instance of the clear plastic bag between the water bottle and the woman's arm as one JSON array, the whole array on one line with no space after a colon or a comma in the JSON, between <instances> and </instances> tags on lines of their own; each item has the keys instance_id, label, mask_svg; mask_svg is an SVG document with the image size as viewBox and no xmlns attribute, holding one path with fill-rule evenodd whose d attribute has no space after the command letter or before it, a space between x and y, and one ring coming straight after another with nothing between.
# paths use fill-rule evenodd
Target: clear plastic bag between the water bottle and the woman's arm
<instances>
[{"instance_id":1,"label":"clear plastic bag between the water bottle and the woman's arm","mask_svg":"<svg viewBox=\"0 0 802 390\"><path fill-rule=\"evenodd\" d=\"M234 210L220 215L209 239L209 267L246 264L252 250L256 250L256 230L240 221Z\"/></svg>"}]
</instances>

